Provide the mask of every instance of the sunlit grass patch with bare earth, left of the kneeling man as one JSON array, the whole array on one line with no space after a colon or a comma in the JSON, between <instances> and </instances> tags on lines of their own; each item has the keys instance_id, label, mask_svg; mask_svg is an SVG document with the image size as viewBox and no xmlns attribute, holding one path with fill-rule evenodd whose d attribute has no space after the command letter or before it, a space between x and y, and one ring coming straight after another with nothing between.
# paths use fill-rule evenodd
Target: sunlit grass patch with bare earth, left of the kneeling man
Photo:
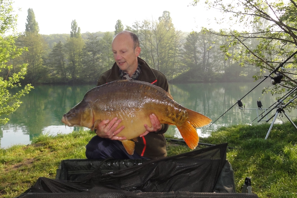
<instances>
[{"instance_id":1,"label":"sunlit grass patch with bare earth, left of the kneeling man","mask_svg":"<svg viewBox=\"0 0 297 198\"><path fill-rule=\"evenodd\" d=\"M39 177L55 178L63 159L86 158L85 146L94 132L41 135L31 145L0 149L0 197L16 197Z\"/></svg>"}]
</instances>

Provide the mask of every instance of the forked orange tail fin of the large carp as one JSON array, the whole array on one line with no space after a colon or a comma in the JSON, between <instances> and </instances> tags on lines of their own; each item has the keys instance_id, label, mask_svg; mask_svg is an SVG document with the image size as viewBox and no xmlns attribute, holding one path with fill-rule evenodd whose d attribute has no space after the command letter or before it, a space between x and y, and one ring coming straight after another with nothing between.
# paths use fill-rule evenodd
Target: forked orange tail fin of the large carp
<instances>
[{"instance_id":1,"label":"forked orange tail fin of the large carp","mask_svg":"<svg viewBox=\"0 0 297 198\"><path fill-rule=\"evenodd\" d=\"M205 126L211 119L196 111L187 109L188 119L181 126L176 126L190 149L195 149L199 142L196 128Z\"/></svg>"}]
</instances>

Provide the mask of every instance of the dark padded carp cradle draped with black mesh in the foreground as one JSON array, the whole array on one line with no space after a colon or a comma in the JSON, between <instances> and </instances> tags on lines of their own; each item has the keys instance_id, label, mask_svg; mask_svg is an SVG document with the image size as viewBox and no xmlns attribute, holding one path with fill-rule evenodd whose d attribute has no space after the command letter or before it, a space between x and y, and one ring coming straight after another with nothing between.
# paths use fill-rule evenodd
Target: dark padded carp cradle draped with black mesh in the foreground
<instances>
[{"instance_id":1,"label":"dark padded carp cradle draped with black mesh in the foreground","mask_svg":"<svg viewBox=\"0 0 297 198\"><path fill-rule=\"evenodd\" d=\"M154 160L64 160L58 179L41 177L19 197L257 197L233 193L233 180L223 185L226 148L227 143Z\"/></svg>"}]
</instances>

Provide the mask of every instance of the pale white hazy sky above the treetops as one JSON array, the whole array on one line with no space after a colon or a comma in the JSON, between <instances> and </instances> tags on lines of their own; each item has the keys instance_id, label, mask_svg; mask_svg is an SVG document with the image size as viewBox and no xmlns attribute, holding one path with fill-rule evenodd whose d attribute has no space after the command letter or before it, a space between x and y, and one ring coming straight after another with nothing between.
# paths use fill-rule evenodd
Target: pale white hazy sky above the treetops
<instances>
[{"instance_id":1,"label":"pale white hazy sky above the treetops","mask_svg":"<svg viewBox=\"0 0 297 198\"><path fill-rule=\"evenodd\" d=\"M18 32L25 31L28 9L31 8L39 24L40 34L69 34L72 20L76 20L81 33L114 31L119 19L124 27L132 26L135 21L157 20L163 11L170 12L177 30L200 31L202 26L214 26L213 18L216 15L216 12L210 13L203 3L191 6L192 0L13 1L12 7L18 14ZM212 18L208 19L208 16Z\"/></svg>"}]
</instances>

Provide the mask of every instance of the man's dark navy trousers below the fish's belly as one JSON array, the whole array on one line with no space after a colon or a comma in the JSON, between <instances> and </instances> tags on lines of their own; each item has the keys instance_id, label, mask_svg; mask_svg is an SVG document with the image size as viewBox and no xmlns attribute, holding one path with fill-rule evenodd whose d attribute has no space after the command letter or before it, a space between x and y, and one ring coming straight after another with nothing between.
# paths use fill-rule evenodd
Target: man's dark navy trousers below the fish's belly
<instances>
[{"instance_id":1,"label":"man's dark navy trousers below the fish's belly","mask_svg":"<svg viewBox=\"0 0 297 198\"><path fill-rule=\"evenodd\" d=\"M133 155L129 155L125 150L122 142L118 140L110 140L95 135L86 145L86 157L88 159L148 159L141 157L135 151Z\"/></svg>"}]
</instances>

